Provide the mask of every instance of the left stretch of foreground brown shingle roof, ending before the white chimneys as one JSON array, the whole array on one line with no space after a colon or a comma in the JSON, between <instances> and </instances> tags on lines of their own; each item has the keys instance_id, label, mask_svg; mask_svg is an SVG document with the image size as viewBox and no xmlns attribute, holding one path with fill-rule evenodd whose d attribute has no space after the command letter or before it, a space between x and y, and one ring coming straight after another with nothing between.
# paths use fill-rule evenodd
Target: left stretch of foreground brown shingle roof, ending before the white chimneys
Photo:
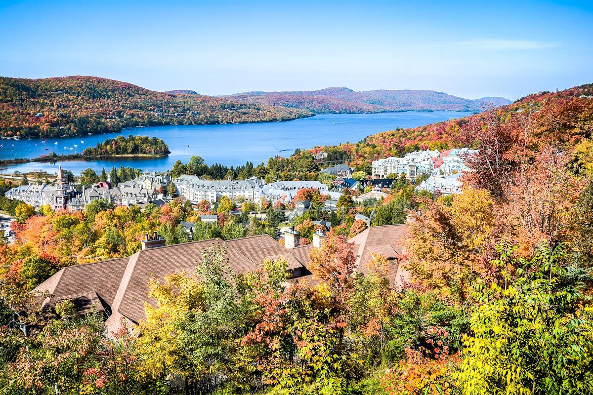
<instances>
[{"instance_id":1,"label":"left stretch of foreground brown shingle roof, ending before the white chimneys","mask_svg":"<svg viewBox=\"0 0 593 395\"><path fill-rule=\"evenodd\" d=\"M113 329L119 325L121 317L133 322L144 318L147 284L151 275L162 279L174 272L193 272L196 264L201 262L202 250L213 244L227 246L228 264L236 273L255 271L267 259L285 258L289 269L303 267L291 250L269 235L227 242L209 239L144 249L127 258L68 266L44 281L36 290L53 294L43 301L44 306L72 299L79 313L86 313L93 304L99 310L111 309L112 317L108 320L108 326L111 325ZM154 300L148 300L148 303L154 303Z\"/></svg>"}]
</instances>

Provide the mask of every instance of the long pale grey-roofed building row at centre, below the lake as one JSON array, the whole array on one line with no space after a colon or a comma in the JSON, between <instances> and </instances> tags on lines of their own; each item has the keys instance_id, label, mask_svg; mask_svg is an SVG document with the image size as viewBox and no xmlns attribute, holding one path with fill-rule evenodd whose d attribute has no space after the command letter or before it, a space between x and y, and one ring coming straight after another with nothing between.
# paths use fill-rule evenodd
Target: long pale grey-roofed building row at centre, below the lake
<instances>
[{"instance_id":1,"label":"long pale grey-roofed building row at centre, below the lake","mask_svg":"<svg viewBox=\"0 0 593 395\"><path fill-rule=\"evenodd\" d=\"M173 180L177 193L193 204L202 200L215 203L226 196L234 200L243 197L246 200L280 200L290 203L302 188L315 188L330 198L339 198L340 193L330 192L326 184L319 181L277 181L266 184L263 179L251 177L237 181L210 181L195 175L182 175Z\"/></svg>"}]
</instances>

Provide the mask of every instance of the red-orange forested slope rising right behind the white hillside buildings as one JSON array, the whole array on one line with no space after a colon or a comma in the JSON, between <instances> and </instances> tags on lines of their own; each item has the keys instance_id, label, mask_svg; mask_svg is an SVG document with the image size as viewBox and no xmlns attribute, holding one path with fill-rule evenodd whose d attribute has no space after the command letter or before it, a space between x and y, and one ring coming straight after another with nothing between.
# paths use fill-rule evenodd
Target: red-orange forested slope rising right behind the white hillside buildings
<instances>
[{"instance_id":1,"label":"red-orange forested slope rising right behind the white hillside buildings","mask_svg":"<svg viewBox=\"0 0 593 395\"><path fill-rule=\"evenodd\" d=\"M401 156L419 149L449 149L467 145L467 134L479 127L484 129L489 117L500 123L500 129L521 129L525 127L522 125L528 124L530 129L537 130L535 143L539 139L555 140L556 144L565 146L588 142L593 139L593 84L560 92L539 92L470 117L412 129L398 128L365 137L358 143L315 147L308 151L331 152L332 158L336 152L341 152L353 160L353 165L359 165L369 159ZM508 133L512 134L511 131ZM487 136L484 134L483 138ZM591 159L593 161L593 148Z\"/></svg>"}]
</instances>

